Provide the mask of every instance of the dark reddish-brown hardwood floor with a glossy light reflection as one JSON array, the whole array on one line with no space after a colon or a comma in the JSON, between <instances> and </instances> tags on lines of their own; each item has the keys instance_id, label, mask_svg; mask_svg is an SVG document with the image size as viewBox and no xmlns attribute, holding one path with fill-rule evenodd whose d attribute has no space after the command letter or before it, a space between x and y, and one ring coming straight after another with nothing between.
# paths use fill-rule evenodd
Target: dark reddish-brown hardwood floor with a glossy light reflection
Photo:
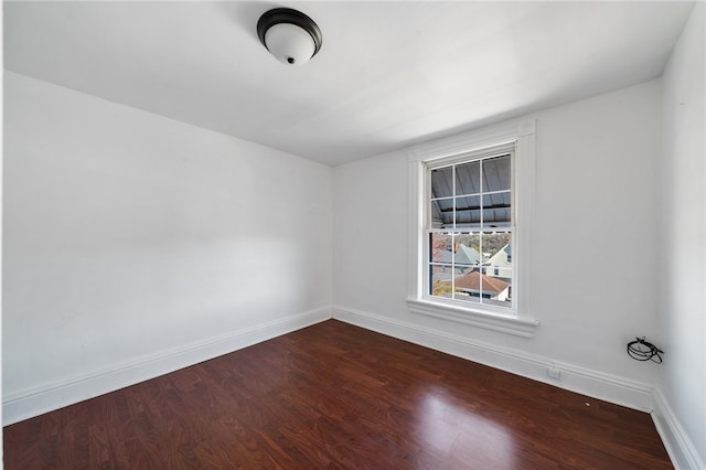
<instances>
[{"instance_id":1,"label":"dark reddish-brown hardwood floor with a glossy light reflection","mask_svg":"<svg viewBox=\"0 0 706 470\"><path fill-rule=\"evenodd\" d=\"M4 428L14 469L663 469L651 417L335 320Z\"/></svg>"}]
</instances>

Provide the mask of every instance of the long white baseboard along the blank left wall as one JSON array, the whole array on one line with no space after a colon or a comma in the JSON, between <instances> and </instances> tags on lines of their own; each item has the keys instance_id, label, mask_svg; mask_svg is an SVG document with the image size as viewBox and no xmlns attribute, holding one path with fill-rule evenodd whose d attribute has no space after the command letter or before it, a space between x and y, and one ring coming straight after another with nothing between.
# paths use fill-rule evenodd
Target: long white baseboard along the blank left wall
<instances>
[{"instance_id":1,"label":"long white baseboard along the blank left wall","mask_svg":"<svg viewBox=\"0 0 706 470\"><path fill-rule=\"evenodd\" d=\"M3 396L3 426L217 357L331 318L324 307L161 352L141 361Z\"/></svg>"}]
</instances>

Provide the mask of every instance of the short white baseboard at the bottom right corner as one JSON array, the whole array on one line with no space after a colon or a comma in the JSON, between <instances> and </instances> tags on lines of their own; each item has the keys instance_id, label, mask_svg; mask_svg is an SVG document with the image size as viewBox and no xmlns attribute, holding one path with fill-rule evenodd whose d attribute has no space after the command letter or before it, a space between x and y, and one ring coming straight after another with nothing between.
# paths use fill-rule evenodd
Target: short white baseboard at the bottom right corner
<instances>
[{"instance_id":1,"label":"short white baseboard at the bottom right corner","mask_svg":"<svg viewBox=\"0 0 706 470\"><path fill-rule=\"evenodd\" d=\"M706 462L698 456L694 442L688 438L662 392L655 388L653 395L652 419L674 467L677 470L706 469Z\"/></svg>"}]
</instances>

